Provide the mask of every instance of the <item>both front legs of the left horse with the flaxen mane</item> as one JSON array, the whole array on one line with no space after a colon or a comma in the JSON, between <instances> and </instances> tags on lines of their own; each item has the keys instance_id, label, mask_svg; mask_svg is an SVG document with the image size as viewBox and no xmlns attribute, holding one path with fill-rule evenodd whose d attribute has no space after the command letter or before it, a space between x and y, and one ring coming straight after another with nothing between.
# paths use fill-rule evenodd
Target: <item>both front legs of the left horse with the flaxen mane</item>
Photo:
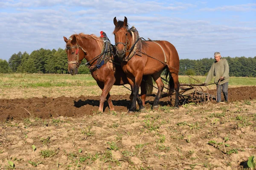
<instances>
[{"instance_id":1,"label":"both front legs of the left horse with the flaxen mane","mask_svg":"<svg viewBox=\"0 0 256 170\"><path fill-rule=\"evenodd\" d=\"M99 110L98 110L98 111L103 112L104 102L105 102L105 100L106 100L106 98L107 98L108 95L109 95L109 97L108 97L108 105L110 104L110 105L109 105L109 109L110 109L111 111L114 111L114 110L115 110L114 107L113 107L112 101L111 101L111 102L109 101L109 100L111 100L109 91L111 90L111 88L112 88L114 82L115 82L114 80L109 80L109 81L107 80L104 85L102 85L101 83L98 83L98 82L97 82L97 84L99 85L99 87L102 89L102 94L101 94L101 96L99 97Z\"/></svg>"}]
</instances>

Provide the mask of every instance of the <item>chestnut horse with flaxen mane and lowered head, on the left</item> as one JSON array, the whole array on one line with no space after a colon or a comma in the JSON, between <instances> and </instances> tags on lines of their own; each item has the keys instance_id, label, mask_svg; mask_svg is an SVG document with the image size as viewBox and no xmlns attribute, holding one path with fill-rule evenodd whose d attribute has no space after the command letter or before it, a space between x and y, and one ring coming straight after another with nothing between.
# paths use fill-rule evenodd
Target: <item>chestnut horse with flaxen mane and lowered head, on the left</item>
<instances>
[{"instance_id":1,"label":"chestnut horse with flaxen mane and lowered head, on the left","mask_svg":"<svg viewBox=\"0 0 256 170\"><path fill-rule=\"evenodd\" d=\"M103 31L101 34L104 33ZM104 33L105 34L105 33ZM103 35L103 34L102 34ZM85 58L87 65L89 65L92 77L96 80L99 88L102 89L102 94L99 99L99 111L103 111L103 105L107 99L109 109L114 111L111 96L109 94L113 85L125 85L128 84L128 79L125 73L122 71L120 65L114 64L118 62L118 57L113 55L115 49L111 48L113 45L109 42L107 37L96 37L96 35L88 34L73 34L69 39L66 37L66 52L68 57L68 72L72 75L78 73L79 65ZM111 50L112 49L112 50ZM152 80L147 79L148 83ZM150 82L151 81L151 82ZM137 97L137 102L140 109L145 108L146 93L152 91L152 88L144 83L141 87L141 98ZM130 99L132 99L132 95Z\"/></svg>"}]
</instances>

